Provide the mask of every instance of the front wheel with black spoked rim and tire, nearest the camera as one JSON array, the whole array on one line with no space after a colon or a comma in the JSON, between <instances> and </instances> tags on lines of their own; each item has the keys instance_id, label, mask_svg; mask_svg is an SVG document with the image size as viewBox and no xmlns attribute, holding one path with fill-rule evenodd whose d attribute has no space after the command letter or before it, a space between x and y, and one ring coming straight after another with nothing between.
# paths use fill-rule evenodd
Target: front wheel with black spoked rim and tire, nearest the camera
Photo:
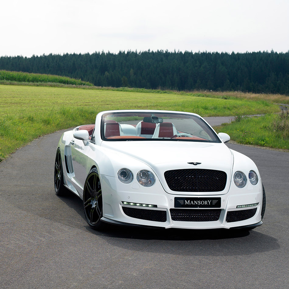
<instances>
[{"instance_id":1,"label":"front wheel with black spoked rim and tire, nearest the camera","mask_svg":"<svg viewBox=\"0 0 289 289\"><path fill-rule=\"evenodd\" d=\"M87 175L83 189L83 209L87 223L94 230L102 230L103 199L99 174L96 167Z\"/></svg>"}]
</instances>

